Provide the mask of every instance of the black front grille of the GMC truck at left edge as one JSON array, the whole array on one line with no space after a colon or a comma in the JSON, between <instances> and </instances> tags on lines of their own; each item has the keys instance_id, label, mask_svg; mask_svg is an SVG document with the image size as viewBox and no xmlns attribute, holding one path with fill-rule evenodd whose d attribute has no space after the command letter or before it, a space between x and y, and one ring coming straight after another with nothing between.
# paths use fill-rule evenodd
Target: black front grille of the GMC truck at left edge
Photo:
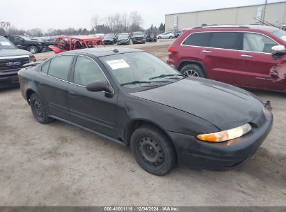
<instances>
[{"instance_id":1,"label":"black front grille of the GMC truck at left edge","mask_svg":"<svg viewBox=\"0 0 286 212\"><path fill-rule=\"evenodd\" d=\"M29 56L7 56L3 58L0 57L0 73L20 70L26 63L29 63Z\"/></svg>"}]
</instances>

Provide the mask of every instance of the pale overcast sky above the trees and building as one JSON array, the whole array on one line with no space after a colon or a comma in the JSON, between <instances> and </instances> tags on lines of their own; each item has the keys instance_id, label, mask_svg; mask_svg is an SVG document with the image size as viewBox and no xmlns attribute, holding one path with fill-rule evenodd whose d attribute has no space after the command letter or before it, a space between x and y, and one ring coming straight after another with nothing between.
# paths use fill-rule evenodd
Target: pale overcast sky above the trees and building
<instances>
[{"instance_id":1,"label":"pale overcast sky above the trees and building","mask_svg":"<svg viewBox=\"0 0 286 212\"><path fill-rule=\"evenodd\" d=\"M269 0L269 3L282 0ZM228 8L264 3L265 0L0 0L0 22L11 22L19 29L39 27L91 29L94 15L100 18L114 13L138 11L143 17L143 28L151 24L159 27L165 14L214 8Z\"/></svg>"}]
</instances>

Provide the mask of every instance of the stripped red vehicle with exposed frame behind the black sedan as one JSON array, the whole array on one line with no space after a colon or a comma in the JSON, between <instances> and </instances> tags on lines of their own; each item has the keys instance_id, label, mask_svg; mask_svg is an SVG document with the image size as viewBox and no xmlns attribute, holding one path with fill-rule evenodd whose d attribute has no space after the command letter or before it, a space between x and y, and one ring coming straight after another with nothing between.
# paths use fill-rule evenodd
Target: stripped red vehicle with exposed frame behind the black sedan
<instances>
[{"instance_id":1,"label":"stripped red vehicle with exposed frame behind the black sedan","mask_svg":"<svg viewBox=\"0 0 286 212\"><path fill-rule=\"evenodd\" d=\"M100 43L105 47L102 38L93 38L90 36L58 37L54 45L49 45L49 48L58 54L70 50L97 47Z\"/></svg>"}]
</instances>

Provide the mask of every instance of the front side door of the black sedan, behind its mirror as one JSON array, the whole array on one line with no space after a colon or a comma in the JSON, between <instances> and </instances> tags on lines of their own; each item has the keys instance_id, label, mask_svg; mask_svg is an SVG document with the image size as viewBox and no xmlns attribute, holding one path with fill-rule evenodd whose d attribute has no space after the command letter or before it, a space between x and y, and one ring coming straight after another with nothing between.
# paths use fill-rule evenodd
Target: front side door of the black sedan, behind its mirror
<instances>
[{"instance_id":1,"label":"front side door of the black sedan, behind its mirror","mask_svg":"<svg viewBox=\"0 0 286 212\"><path fill-rule=\"evenodd\" d=\"M118 135L116 130L118 94L112 86L113 93L91 92L86 89L89 82L97 80L109 82L102 68L93 57L77 56L72 72L72 82L67 86L70 116L72 122L80 126L116 137Z\"/></svg>"}]
</instances>

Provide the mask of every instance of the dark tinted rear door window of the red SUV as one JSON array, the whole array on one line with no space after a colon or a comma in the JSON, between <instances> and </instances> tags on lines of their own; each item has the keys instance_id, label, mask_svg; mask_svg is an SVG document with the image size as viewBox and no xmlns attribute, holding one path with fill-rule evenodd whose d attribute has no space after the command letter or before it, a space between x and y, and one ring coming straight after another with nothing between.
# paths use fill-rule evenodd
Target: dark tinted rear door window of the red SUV
<instances>
[{"instance_id":1,"label":"dark tinted rear door window of the red SUV","mask_svg":"<svg viewBox=\"0 0 286 212\"><path fill-rule=\"evenodd\" d=\"M237 36L235 32L214 32L209 40L209 47L237 50Z\"/></svg>"}]
</instances>

